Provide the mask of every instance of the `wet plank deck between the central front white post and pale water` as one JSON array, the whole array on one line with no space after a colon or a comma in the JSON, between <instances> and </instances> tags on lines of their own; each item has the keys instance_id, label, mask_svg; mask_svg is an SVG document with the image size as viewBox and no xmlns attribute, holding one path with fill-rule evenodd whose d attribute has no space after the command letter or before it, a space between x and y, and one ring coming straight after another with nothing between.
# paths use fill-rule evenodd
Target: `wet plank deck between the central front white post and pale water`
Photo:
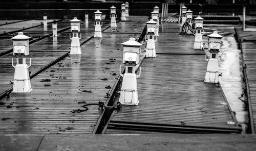
<instances>
[{"instance_id":1,"label":"wet plank deck between the central front white post and pale water","mask_svg":"<svg viewBox=\"0 0 256 151\"><path fill-rule=\"evenodd\" d=\"M141 65L139 106L123 106L117 111L106 134L241 131L229 107L221 104L226 103L221 88L203 82L207 66L204 52L194 50L194 36L179 35L179 28L178 23L162 23L157 58L144 59Z\"/></svg>"}]
</instances>

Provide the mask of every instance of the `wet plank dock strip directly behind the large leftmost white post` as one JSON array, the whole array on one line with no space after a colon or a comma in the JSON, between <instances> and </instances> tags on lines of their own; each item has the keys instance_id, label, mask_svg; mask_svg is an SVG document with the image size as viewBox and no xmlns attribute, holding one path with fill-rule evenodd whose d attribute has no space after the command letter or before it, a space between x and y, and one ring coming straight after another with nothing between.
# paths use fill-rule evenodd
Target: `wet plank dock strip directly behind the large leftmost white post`
<instances>
[{"instance_id":1,"label":"wet plank dock strip directly behind the large leftmost white post","mask_svg":"<svg viewBox=\"0 0 256 151\"><path fill-rule=\"evenodd\" d=\"M70 22L66 21L63 23L63 28L68 27ZM102 26L102 29L108 27L109 22L105 22ZM61 28L62 26L60 26ZM89 29L94 29L94 26L89 26ZM85 24L81 25L81 29L85 29ZM26 31L27 32L27 31ZM82 38L80 39L80 43L82 43L84 40L87 40L90 38L93 33L83 31ZM1 39L0 39L1 40ZM12 45L12 44L11 44ZM69 32L62 32L58 34L57 39L53 39L53 37L45 38L40 41L37 41L33 44L30 44L30 55L27 58L32 58L32 65L29 68L29 71L31 74L35 73L40 68L46 66L47 64L53 62L60 56L70 52L70 45L71 40L69 38ZM0 76L1 76L1 87L0 87L0 93L5 92L7 89L12 87L9 83L11 80L13 80L14 76L14 68L11 66L11 58L15 57L12 53L0 57L1 63L0 63ZM27 59L28 60L28 59ZM27 62L29 63L29 62Z\"/></svg>"}]
</instances>

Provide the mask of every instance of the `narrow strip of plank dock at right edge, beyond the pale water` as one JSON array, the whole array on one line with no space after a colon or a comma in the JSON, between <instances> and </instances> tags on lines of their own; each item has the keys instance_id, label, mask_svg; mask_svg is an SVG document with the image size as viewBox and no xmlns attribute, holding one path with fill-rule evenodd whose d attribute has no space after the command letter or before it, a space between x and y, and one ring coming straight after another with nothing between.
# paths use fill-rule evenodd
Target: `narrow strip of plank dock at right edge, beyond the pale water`
<instances>
[{"instance_id":1,"label":"narrow strip of plank dock at right edge, beyond the pale water","mask_svg":"<svg viewBox=\"0 0 256 151\"><path fill-rule=\"evenodd\" d=\"M242 50L243 72L246 82L250 128L252 134L256 130L256 32L244 32L242 28L236 28L238 41Z\"/></svg>"}]
</instances>

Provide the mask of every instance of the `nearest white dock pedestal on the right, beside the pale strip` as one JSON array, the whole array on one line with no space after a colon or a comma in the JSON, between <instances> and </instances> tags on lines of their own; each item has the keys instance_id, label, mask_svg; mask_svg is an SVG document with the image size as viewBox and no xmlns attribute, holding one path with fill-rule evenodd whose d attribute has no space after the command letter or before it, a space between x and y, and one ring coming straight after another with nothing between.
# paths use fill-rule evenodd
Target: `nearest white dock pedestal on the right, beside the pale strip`
<instances>
[{"instance_id":1,"label":"nearest white dock pedestal on the right, beside the pale strip","mask_svg":"<svg viewBox=\"0 0 256 151\"><path fill-rule=\"evenodd\" d=\"M208 60L207 69L205 73L204 82L219 83L219 60L218 53L221 48L222 36L217 31L208 35L208 51L210 52L210 59Z\"/></svg>"}]
</instances>

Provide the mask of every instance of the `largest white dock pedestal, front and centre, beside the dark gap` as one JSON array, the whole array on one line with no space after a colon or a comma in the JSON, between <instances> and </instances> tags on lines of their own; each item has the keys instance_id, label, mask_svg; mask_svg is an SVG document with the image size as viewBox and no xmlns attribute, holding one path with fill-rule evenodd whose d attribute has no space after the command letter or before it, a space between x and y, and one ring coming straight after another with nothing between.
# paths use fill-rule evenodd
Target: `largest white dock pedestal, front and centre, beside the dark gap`
<instances>
[{"instance_id":1,"label":"largest white dock pedestal, front and centre, beside the dark gap","mask_svg":"<svg viewBox=\"0 0 256 151\"><path fill-rule=\"evenodd\" d=\"M137 65L139 64L140 46L141 43L135 41L135 38L130 38L129 41L123 42L123 64L125 65L125 73L120 75L123 77L119 102L123 105L138 105L138 89L137 78L140 77L136 74Z\"/></svg>"}]
</instances>

